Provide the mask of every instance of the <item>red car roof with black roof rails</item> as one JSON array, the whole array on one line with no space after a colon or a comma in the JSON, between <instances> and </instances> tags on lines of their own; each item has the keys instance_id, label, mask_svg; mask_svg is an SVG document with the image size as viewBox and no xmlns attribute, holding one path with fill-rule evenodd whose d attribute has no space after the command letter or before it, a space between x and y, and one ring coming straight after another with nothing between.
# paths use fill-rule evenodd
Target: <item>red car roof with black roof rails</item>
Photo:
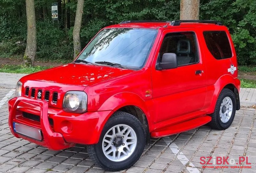
<instances>
[{"instance_id":1,"label":"red car roof with black roof rails","mask_svg":"<svg viewBox=\"0 0 256 173\"><path fill-rule=\"evenodd\" d=\"M124 21L116 25L110 25L107 28L148 28L158 29L159 27L164 28L187 28L187 27L199 27L199 26L223 26L219 21L212 20L176 20L176 21Z\"/></svg>"}]
</instances>

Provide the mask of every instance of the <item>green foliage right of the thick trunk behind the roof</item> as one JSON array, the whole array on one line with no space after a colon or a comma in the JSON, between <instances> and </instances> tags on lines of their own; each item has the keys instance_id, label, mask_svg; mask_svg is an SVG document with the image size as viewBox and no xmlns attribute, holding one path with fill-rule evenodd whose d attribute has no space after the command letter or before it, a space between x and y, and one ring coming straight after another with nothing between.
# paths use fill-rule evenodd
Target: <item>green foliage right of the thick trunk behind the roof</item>
<instances>
[{"instance_id":1,"label":"green foliage right of the thick trunk behind the roof","mask_svg":"<svg viewBox=\"0 0 256 173\"><path fill-rule=\"evenodd\" d=\"M238 63L256 63L256 1L201 0L200 18L220 20L232 35Z\"/></svg>"}]
</instances>

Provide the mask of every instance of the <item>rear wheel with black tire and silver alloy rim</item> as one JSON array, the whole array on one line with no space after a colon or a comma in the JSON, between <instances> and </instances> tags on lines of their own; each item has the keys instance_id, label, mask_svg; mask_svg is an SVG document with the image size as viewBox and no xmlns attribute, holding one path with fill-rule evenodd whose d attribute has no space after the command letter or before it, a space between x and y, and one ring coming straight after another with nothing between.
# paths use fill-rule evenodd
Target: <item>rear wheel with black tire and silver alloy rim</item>
<instances>
[{"instance_id":1,"label":"rear wheel with black tire and silver alloy rim","mask_svg":"<svg viewBox=\"0 0 256 173\"><path fill-rule=\"evenodd\" d=\"M230 113L231 112L231 113ZM217 99L214 112L211 114L210 126L218 130L227 129L233 122L236 114L236 96L224 88Z\"/></svg>"}]
</instances>

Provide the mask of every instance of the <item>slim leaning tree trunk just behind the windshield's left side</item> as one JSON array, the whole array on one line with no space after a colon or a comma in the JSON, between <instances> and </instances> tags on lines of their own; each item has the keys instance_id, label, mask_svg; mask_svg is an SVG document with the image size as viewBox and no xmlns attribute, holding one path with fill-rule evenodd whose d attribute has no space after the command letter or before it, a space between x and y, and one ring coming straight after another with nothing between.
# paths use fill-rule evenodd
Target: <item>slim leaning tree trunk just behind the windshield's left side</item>
<instances>
[{"instance_id":1,"label":"slim leaning tree trunk just behind the windshield's left side","mask_svg":"<svg viewBox=\"0 0 256 173\"><path fill-rule=\"evenodd\" d=\"M83 8L84 8L84 0L77 0L76 18L75 18L75 25L73 30L74 59L81 51L80 29L81 29L81 23L82 23Z\"/></svg>"}]
</instances>

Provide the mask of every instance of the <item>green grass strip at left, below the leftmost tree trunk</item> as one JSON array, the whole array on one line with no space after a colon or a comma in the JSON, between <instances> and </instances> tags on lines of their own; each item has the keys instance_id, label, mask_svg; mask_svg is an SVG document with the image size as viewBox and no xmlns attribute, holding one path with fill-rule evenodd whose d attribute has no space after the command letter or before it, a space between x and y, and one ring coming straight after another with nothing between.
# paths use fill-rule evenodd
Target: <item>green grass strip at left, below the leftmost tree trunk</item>
<instances>
[{"instance_id":1,"label":"green grass strip at left, below the leftmost tree trunk","mask_svg":"<svg viewBox=\"0 0 256 173\"><path fill-rule=\"evenodd\" d=\"M51 68L51 67L45 67L45 66L24 67L23 65L0 64L0 72L5 72L5 73L31 74L37 71L45 70L47 68Z\"/></svg>"}]
</instances>

